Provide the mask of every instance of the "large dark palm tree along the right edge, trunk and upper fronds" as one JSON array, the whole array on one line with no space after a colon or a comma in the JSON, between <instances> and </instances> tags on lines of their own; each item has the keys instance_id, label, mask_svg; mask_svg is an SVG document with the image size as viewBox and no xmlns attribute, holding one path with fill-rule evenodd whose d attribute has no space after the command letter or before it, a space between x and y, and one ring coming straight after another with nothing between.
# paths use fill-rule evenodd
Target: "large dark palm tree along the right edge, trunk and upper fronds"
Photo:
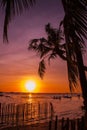
<instances>
[{"instance_id":1,"label":"large dark palm tree along the right edge, trunk and upper fronds","mask_svg":"<svg viewBox=\"0 0 87 130\"><path fill-rule=\"evenodd\" d=\"M71 59L69 46L72 44L78 67L84 105L87 109L87 79L82 57L83 50L85 49L84 38L87 39L87 3L85 0L62 0L62 4L65 12L63 27L66 41L66 54Z\"/></svg>"}]
</instances>

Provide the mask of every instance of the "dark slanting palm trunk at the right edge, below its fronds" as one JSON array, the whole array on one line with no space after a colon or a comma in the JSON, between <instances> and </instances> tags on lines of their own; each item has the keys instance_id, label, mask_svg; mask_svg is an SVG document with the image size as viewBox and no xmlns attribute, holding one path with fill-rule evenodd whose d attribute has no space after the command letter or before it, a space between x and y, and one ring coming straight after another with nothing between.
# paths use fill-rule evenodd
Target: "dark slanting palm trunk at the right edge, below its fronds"
<instances>
[{"instance_id":1,"label":"dark slanting palm trunk at the right edge, below its fronds","mask_svg":"<svg viewBox=\"0 0 87 130\"><path fill-rule=\"evenodd\" d=\"M85 106L85 109L87 110L87 80L86 80L86 74L84 71L83 57L82 57L81 49L80 47L78 47L78 43L75 44L75 52L76 52L76 58L77 58L77 65L78 65L82 95L84 99L84 106Z\"/></svg>"}]
</instances>

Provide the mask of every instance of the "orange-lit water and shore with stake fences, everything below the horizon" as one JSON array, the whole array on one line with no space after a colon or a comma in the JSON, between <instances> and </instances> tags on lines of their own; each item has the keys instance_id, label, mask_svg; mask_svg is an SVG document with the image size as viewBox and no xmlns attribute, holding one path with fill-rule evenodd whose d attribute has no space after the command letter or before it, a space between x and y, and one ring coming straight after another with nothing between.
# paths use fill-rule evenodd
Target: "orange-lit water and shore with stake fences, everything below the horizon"
<instances>
[{"instance_id":1,"label":"orange-lit water and shore with stake fences, everything below the horizon","mask_svg":"<svg viewBox=\"0 0 87 130\"><path fill-rule=\"evenodd\" d=\"M82 97L76 95L4 93L0 99L0 130L79 130L84 122Z\"/></svg>"}]
</instances>

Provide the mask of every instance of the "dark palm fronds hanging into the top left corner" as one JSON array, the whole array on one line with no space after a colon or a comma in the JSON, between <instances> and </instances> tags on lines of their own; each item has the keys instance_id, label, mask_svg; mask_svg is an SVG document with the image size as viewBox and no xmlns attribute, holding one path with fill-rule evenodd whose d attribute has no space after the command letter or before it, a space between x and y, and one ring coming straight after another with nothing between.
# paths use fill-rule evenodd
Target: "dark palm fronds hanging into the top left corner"
<instances>
[{"instance_id":1,"label":"dark palm fronds hanging into the top left corner","mask_svg":"<svg viewBox=\"0 0 87 130\"><path fill-rule=\"evenodd\" d=\"M8 25L11 19L29 9L35 0L0 0L0 8L5 11L3 40L8 42Z\"/></svg>"}]
</instances>

